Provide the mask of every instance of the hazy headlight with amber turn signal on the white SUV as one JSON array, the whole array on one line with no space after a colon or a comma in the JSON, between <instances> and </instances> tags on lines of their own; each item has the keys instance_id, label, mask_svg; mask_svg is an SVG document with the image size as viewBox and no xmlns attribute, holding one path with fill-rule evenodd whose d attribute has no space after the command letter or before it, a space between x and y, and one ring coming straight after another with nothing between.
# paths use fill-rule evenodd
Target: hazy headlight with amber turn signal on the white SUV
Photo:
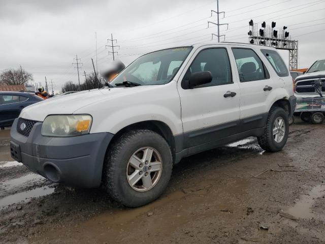
<instances>
[{"instance_id":1,"label":"hazy headlight with amber turn signal on the white SUV","mask_svg":"<svg viewBox=\"0 0 325 244\"><path fill-rule=\"evenodd\" d=\"M42 125L43 136L79 136L88 134L92 117L87 114L49 115Z\"/></svg>"}]
</instances>

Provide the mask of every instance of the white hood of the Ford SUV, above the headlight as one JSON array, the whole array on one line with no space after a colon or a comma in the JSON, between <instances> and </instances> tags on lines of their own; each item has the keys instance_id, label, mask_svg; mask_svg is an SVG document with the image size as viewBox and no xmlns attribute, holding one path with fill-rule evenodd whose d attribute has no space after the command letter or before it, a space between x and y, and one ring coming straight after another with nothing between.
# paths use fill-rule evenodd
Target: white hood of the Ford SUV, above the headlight
<instances>
[{"instance_id":1,"label":"white hood of the Ford SUV, above the headlight","mask_svg":"<svg viewBox=\"0 0 325 244\"><path fill-rule=\"evenodd\" d=\"M140 90L147 88L149 87L137 86L93 89L50 98L24 108L19 117L44 121L46 116L49 114L73 114L76 110L90 104L98 103L102 100L109 100L114 97L127 96L129 93L139 92ZM91 113L89 112L89 114Z\"/></svg>"}]
</instances>

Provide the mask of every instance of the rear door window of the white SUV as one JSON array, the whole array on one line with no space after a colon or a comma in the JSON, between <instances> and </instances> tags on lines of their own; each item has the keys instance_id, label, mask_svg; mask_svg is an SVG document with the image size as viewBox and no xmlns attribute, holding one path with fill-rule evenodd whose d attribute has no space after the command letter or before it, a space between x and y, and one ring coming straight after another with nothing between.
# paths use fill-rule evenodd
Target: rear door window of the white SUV
<instances>
[{"instance_id":1,"label":"rear door window of the white SUV","mask_svg":"<svg viewBox=\"0 0 325 244\"><path fill-rule=\"evenodd\" d=\"M233 48L241 82L268 79L261 58L252 49Z\"/></svg>"}]
</instances>

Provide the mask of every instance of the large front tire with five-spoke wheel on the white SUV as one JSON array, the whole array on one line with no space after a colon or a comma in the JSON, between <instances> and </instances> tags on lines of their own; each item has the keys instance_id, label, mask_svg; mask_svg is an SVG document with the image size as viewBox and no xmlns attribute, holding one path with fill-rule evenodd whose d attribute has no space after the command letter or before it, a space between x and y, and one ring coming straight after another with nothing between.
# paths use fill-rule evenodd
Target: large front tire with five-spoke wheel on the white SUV
<instances>
[{"instance_id":1,"label":"large front tire with five-spoke wheel on the white SUV","mask_svg":"<svg viewBox=\"0 0 325 244\"><path fill-rule=\"evenodd\" d=\"M132 162L136 163L139 163L139 161L137 161L139 159L145 160L145 151L150 150L152 150L153 155L150 162L160 161L161 171L150 173L149 169L151 168L151 163L143 161L143 168L141 169L139 165L137 171L143 178L138 180L134 186L131 186L131 180L133 179L131 176L134 175L134 178L135 176L140 176L136 173L137 169L132 166L136 164L131 164L129 162L134 158L136 158L136 161ZM137 155L135 155L136 152L138 152ZM141 153L143 153L142 156L139 155ZM147 170L145 170L147 162L148 166ZM152 167L154 167L153 164ZM131 172L129 172L130 169ZM104 165L104 185L110 196L115 201L127 207L139 207L154 201L164 192L170 180L172 169L173 158L171 149L163 137L149 130L129 131L117 139L108 150ZM132 172L132 170L134 171ZM140 174L140 171L142 174ZM160 172L160 175L157 175L157 172ZM146 180L142 181L142 179L144 179L144 177L147 177L146 179L148 179L149 176L150 178L152 177L150 180L152 187L145 188ZM141 184L143 186L141 186Z\"/></svg>"}]
</instances>

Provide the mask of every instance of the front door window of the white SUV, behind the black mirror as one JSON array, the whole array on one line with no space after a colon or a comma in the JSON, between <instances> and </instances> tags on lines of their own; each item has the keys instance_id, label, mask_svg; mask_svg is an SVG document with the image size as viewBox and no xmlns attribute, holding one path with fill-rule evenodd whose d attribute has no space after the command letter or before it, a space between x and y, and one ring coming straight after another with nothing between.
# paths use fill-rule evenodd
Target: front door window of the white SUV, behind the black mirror
<instances>
[{"instance_id":1,"label":"front door window of the white SUV, behind the black mirror","mask_svg":"<svg viewBox=\"0 0 325 244\"><path fill-rule=\"evenodd\" d=\"M200 71L210 71L212 81L194 88L233 83L229 56L225 48L210 48L201 51L188 68L184 79Z\"/></svg>"}]
</instances>

